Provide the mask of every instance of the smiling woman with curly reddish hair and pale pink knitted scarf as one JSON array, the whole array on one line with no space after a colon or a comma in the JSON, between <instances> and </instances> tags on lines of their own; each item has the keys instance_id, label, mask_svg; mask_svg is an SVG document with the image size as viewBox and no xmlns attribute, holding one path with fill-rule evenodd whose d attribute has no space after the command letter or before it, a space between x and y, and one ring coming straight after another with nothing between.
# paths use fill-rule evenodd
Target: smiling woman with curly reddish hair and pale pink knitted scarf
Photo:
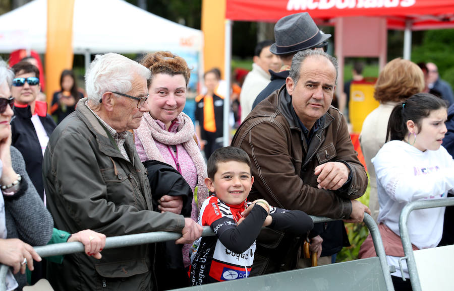
<instances>
[{"instance_id":1,"label":"smiling woman with curly reddish hair and pale pink knitted scarf","mask_svg":"<svg viewBox=\"0 0 454 291\"><path fill-rule=\"evenodd\" d=\"M186 61L171 52L147 54L141 63L151 70L148 85L148 105L139 128L134 130L137 153L142 162L156 160L174 167L186 180L197 201L202 205L208 197L204 183L206 164L200 152L191 118L183 113L190 70ZM152 193L153 195L154 193ZM200 207L200 206L199 206ZM192 198L191 218L197 222L198 208ZM157 211L180 214L182 196L164 195L159 199ZM189 285L185 268L190 265L189 245L182 250L184 268L176 268L165 255L156 262L158 289L172 289ZM158 254L157 254L158 255Z\"/></svg>"}]
</instances>

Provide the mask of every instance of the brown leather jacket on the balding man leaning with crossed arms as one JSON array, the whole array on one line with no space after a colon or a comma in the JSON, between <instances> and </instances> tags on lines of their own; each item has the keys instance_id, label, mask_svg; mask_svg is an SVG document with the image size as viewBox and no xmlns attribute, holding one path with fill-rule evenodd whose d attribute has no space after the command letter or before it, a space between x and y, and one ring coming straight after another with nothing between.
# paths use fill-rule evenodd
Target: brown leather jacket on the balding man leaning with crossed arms
<instances>
[{"instance_id":1,"label":"brown leather jacket on the balding man leaning with crossed arms","mask_svg":"<svg viewBox=\"0 0 454 291\"><path fill-rule=\"evenodd\" d=\"M232 145L251 157L254 184L249 200L264 198L271 205L300 209L334 219L348 218L350 199L366 191L368 179L359 162L342 114L330 107L306 144L285 86L262 101L238 128ZM317 188L314 169L326 162L343 162L351 172L347 189ZM346 185L347 186L347 185Z\"/></svg>"}]
</instances>

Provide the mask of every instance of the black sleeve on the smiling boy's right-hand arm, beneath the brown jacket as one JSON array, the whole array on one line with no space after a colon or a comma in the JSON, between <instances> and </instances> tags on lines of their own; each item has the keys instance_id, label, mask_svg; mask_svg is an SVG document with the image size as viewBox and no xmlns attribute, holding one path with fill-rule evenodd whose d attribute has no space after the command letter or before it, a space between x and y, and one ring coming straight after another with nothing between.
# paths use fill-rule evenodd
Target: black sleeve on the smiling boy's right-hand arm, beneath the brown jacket
<instances>
[{"instance_id":1,"label":"black sleeve on the smiling boy's right-hand arm, beneath the brown jacket","mask_svg":"<svg viewBox=\"0 0 454 291\"><path fill-rule=\"evenodd\" d=\"M268 226L270 229L300 235L306 234L314 227L311 217L301 210L274 209L270 213L273 217L272 223Z\"/></svg>"}]
</instances>

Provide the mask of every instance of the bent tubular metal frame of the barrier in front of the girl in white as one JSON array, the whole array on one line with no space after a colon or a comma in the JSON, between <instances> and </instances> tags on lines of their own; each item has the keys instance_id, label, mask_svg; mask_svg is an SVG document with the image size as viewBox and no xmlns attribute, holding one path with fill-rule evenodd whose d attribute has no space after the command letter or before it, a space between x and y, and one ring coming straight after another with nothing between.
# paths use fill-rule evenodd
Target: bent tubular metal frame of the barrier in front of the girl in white
<instances>
[{"instance_id":1,"label":"bent tubular metal frame of the barrier in front of the girl in white","mask_svg":"<svg viewBox=\"0 0 454 291\"><path fill-rule=\"evenodd\" d=\"M420 200L410 202L402 209L401 216L399 219L399 232L401 233L402 246L404 247L405 257L399 260L407 261L408 273L410 275L410 282L412 284L413 291L422 291L421 282L419 281L418 269L416 267L415 256L413 254L412 242L408 233L408 217L410 212L416 209L434 208L454 205L454 197L434 200ZM402 268L402 267L401 267Z\"/></svg>"}]
</instances>

